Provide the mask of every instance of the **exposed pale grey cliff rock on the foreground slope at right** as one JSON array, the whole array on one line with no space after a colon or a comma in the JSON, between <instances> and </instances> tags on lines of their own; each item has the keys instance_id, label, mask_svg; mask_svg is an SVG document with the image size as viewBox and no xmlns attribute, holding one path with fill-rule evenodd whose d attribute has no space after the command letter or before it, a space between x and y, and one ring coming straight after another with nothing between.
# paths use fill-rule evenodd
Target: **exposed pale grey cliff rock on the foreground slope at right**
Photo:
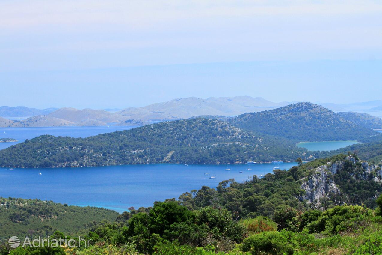
<instances>
[{"instance_id":1,"label":"exposed pale grey cliff rock on the foreground slope at right","mask_svg":"<svg viewBox=\"0 0 382 255\"><path fill-rule=\"evenodd\" d=\"M352 166L350 171L349 165ZM305 190L306 194L299 199L314 204L316 208L321 208L321 198L346 195L336 183L336 179L338 180L336 175L341 171L347 171L348 178L355 181L368 180L382 183L380 167L369 164L367 161L360 161L354 156L348 156L343 161L327 162L327 164L317 167L309 177L301 179L301 188Z\"/></svg>"}]
</instances>

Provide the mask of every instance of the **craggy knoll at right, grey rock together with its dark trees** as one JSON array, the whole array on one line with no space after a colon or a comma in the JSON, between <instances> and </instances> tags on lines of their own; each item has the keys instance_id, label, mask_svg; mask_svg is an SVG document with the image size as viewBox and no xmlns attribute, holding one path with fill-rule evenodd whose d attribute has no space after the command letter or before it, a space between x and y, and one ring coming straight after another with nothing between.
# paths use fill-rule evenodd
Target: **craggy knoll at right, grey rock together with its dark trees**
<instances>
[{"instance_id":1,"label":"craggy knoll at right, grey rock together with its dark trees","mask_svg":"<svg viewBox=\"0 0 382 255\"><path fill-rule=\"evenodd\" d=\"M301 179L301 189L305 194L299 198L317 209L326 209L323 207L325 201L329 200L335 205L364 203L369 206L375 203L374 200L382 192L380 166L369 164L356 156L337 155L320 166L316 167L311 162L302 168L307 174Z\"/></svg>"}]
</instances>

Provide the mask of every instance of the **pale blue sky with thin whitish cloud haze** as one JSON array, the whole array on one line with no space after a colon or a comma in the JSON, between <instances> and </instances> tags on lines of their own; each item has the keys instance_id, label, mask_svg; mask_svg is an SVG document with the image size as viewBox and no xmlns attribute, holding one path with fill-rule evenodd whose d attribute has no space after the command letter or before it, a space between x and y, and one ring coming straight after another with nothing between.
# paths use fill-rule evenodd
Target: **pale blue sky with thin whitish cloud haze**
<instances>
[{"instance_id":1,"label":"pale blue sky with thin whitish cloud haze","mask_svg":"<svg viewBox=\"0 0 382 255\"><path fill-rule=\"evenodd\" d=\"M0 105L382 99L381 1L2 0Z\"/></svg>"}]
</instances>

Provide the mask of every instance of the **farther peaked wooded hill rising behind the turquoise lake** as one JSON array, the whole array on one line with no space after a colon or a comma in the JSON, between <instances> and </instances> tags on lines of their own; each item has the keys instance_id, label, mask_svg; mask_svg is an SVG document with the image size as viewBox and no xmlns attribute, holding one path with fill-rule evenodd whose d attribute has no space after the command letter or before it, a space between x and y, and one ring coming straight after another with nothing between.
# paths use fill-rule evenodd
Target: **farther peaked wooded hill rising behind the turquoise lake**
<instances>
[{"instance_id":1,"label":"farther peaked wooded hill rising behind the turquoise lake","mask_svg":"<svg viewBox=\"0 0 382 255\"><path fill-rule=\"evenodd\" d=\"M245 130L294 141L368 140L377 132L343 119L325 107L309 102L273 110L246 113L229 122Z\"/></svg>"}]
</instances>

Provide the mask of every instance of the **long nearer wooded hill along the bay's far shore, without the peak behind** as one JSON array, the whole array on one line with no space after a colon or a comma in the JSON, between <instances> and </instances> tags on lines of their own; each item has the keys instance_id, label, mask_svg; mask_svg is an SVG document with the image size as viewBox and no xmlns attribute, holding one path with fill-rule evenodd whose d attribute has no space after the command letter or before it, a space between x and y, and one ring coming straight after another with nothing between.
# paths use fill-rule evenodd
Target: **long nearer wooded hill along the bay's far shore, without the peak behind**
<instances>
[{"instance_id":1,"label":"long nearer wooded hill along the bay's far shore, without the peak behind","mask_svg":"<svg viewBox=\"0 0 382 255\"><path fill-rule=\"evenodd\" d=\"M210 119L160 122L88 138L43 135L0 151L0 166L65 167L144 163L294 160L304 150Z\"/></svg>"}]
</instances>

